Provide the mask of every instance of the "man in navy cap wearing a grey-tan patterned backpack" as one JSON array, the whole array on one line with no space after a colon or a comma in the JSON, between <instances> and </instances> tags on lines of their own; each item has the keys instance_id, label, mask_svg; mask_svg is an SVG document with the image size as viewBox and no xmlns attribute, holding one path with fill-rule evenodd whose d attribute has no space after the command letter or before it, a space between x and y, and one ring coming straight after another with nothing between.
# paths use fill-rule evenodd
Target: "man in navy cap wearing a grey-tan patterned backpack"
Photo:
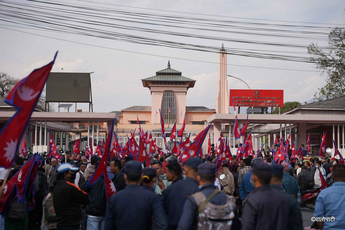
<instances>
[{"instance_id":1,"label":"man in navy cap wearing a grey-tan patterned backpack","mask_svg":"<svg viewBox=\"0 0 345 230\"><path fill-rule=\"evenodd\" d=\"M201 189L186 199L178 230L241 228L234 197L215 189L215 172L214 164L199 164Z\"/></svg>"}]
</instances>

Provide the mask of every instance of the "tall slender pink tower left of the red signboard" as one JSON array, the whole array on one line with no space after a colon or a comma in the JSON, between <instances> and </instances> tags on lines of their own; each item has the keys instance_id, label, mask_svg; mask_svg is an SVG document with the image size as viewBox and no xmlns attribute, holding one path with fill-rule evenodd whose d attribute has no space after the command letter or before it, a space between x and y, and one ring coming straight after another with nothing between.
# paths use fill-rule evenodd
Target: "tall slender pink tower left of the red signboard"
<instances>
[{"instance_id":1,"label":"tall slender pink tower left of the red signboard","mask_svg":"<svg viewBox=\"0 0 345 230\"><path fill-rule=\"evenodd\" d=\"M223 44L219 51L218 91L216 97L216 113L229 113L228 80L226 79L226 51Z\"/></svg>"}]
</instances>

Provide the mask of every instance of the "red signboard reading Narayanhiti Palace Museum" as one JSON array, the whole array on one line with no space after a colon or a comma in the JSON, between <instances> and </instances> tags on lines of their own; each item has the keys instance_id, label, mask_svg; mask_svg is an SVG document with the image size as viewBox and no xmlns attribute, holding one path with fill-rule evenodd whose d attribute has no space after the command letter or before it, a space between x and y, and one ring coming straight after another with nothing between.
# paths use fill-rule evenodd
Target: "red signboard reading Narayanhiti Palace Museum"
<instances>
[{"instance_id":1,"label":"red signboard reading Narayanhiti Palace Museum","mask_svg":"<svg viewBox=\"0 0 345 230\"><path fill-rule=\"evenodd\" d=\"M283 107L284 90L230 89L230 106Z\"/></svg>"}]
</instances>

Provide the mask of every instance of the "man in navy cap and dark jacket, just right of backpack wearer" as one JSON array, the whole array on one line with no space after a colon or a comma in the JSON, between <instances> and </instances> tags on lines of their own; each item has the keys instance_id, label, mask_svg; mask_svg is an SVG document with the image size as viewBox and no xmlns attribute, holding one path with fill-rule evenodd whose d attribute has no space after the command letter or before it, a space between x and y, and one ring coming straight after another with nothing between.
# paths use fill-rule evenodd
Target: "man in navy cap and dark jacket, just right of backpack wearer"
<instances>
[{"instance_id":1,"label":"man in navy cap and dark jacket, just right of backpack wearer","mask_svg":"<svg viewBox=\"0 0 345 230\"><path fill-rule=\"evenodd\" d=\"M288 203L283 194L270 188L272 166L257 162L252 168L254 190L244 202L242 230L286 230ZM267 218L267 213L270 217Z\"/></svg>"}]
</instances>

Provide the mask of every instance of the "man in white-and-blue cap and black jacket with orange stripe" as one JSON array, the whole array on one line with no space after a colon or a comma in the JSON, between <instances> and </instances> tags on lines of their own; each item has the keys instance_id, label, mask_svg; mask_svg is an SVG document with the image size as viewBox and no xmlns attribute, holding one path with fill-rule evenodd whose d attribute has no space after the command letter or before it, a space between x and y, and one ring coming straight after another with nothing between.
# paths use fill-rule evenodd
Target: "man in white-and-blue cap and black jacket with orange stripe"
<instances>
[{"instance_id":1,"label":"man in white-and-blue cap and black jacket with orange stripe","mask_svg":"<svg viewBox=\"0 0 345 230\"><path fill-rule=\"evenodd\" d=\"M58 222L58 229L80 229L80 221L84 216L84 207L89 203L86 192L72 181L76 178L78 168L70 163L60 164L57 168L57 184L53 192L53 203Z\"/></svg>"}]
</instances>

